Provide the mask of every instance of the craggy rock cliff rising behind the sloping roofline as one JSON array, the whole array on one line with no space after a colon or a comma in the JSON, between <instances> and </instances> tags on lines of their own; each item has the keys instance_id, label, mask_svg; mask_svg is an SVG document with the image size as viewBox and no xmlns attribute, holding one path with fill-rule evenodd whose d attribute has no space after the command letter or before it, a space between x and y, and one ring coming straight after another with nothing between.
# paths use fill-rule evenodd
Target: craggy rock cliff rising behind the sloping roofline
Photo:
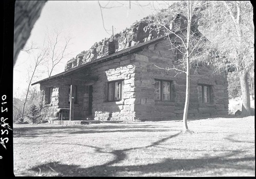
<instances>
[{"instance_id":1,"label":"craggy rock cliff rising behind the sloping roofline","mask_svg":"<svg viewBox=\"0 0 256 179\"><path fill-rule=\"evenodd\" d=\"M169 28L169 23L165 22L164 24ZM114 50L111 51L118 52L129 47L136 46L136 44L141 42L160 37L166 33L166 30L159 26L160 25L155 23L153 19L145 17L123 32L115 34L114 40L112 36L110 38L102 39L102 41L94 43L89 50L83 51L75 58L70 59L65 66L65 71L111 54L108 51L108 46L109 42L112 40L114 43Z\"/></svg>"}]
</instances>

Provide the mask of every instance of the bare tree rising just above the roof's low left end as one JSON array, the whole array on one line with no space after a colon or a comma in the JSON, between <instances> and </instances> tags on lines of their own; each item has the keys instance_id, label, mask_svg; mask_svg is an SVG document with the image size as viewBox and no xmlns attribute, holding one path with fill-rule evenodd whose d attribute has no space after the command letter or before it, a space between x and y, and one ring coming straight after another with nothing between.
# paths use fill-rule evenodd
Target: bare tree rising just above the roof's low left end
<instances>
[{"instance_id":1,"label":"bare tree rising just above the roof's low left end","mask_svg":"<svg viewBox=\"0 0 256 179\"><path fill-rule=\"evenodd\" d=\"M48 77L52 75L56 65L59 64L67 55L71 37L62 36L62 31L53 29L53 34L48 32L48 53L47 53L47 72Z\"/></svg>"}]
</instances>

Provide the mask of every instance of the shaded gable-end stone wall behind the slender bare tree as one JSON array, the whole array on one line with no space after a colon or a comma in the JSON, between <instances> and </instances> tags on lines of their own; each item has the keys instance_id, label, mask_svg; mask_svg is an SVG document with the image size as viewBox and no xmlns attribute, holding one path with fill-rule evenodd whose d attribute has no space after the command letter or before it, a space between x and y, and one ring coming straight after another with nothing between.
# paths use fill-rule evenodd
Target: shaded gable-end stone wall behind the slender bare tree
<instances>
[{"instance_id":1,"label":"shaded gable-end stone wall behind the slender bare tree","mask_svg":"<svg viewBox=\"0 0 256 179\"><path fill-rule=\"evenodd\" d=\"M134 103L135 118L139 120L178 119L183 116L186 91L185 74L176 74L157 68L173 68L174 51L169 50L169 42L161 41L150 45L135 55ZM156 66L155 66L156 65ZM154 79L171 81L171 101L154 100ZM199 103L198 84L211 85L211 103ZM228 91L226 76L213 75L209 67L191 69L190 103L188 116L210 116L228 114Z\"/></svg>"}]
</instances>

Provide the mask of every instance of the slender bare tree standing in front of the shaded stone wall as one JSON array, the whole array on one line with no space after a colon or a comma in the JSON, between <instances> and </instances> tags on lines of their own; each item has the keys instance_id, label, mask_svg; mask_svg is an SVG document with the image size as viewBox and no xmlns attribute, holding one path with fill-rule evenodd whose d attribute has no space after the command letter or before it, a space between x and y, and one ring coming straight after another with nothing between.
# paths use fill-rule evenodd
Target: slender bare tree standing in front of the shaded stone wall
<instances>
[{"instance_id":1,"label":"slender bare tree standing in front of the shaded stone wall","mask_svg":"<svg viewBox=\"0 0 256 179\"><path fill-rule=\"evenodd\" d=\"M180 26L177 29L172 22L175 22L175 19L171 21L170 28L161 24L159 20L155 17L157 23L164 27L169 32L169 41L171 43L170 50L176 50L179 54L182 54L182 57L177 59L176 62L179 62L179 65L173 65L173 68L165 68L164 70L174 70L176 75L180 73L186 74L186 98L184 105L183 113L183 131L189 131L187 125L187 115L188 115L188 106L189 106L189 93L190 93L190 68L192 62L195 63L197 59L197 54L199 53L200 44L205 41L205 37L198 31L196 21L198 20L192 13L192 1L187 1L187 18L181 14L178 14L177 18L180 18L184 21L184 26ZM186 26L185 26L186 25ZM192 61L191 61L192 60ZM158 67L158 66L157 66ZM158 67L159 68L159 67ZM160 68L163 69L163 68Z\"/></svg>"}]
</instances>

